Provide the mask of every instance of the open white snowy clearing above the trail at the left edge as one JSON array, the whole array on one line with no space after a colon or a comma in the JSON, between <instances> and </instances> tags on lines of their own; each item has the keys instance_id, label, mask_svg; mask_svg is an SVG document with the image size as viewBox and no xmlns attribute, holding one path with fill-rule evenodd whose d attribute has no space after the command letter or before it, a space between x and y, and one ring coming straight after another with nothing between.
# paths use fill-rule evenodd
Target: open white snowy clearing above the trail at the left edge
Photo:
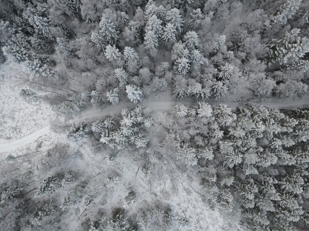
<instances>
[{"instance_id":1,"label":"open white snowy clearing above the trail at the left edge","mask_svg":"<svg viewBox=\"0 0 309 231\"><path fill-rule=\"evenodd\" d=\"M10 143L40 131L56 116L49 104L41 100L26 101L19 94L21 89L29 87L15 78L15 71L12 64L0 64L0 143Z\"/></svg>"}]
</instances>

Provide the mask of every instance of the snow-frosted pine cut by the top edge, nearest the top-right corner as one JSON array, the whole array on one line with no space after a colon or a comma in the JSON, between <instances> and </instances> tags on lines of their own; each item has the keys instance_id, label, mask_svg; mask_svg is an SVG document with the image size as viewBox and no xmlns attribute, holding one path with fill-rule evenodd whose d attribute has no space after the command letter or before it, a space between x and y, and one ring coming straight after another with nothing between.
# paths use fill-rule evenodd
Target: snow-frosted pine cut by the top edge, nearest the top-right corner
<instances>
[{"instance_id":1,"label":"snow-frosted pine cut by the top edge, nearest the top-right corner","mask_svg":"<svg viewBox=\"0 0 309 231\"><path fill-rule=\"evenodd\" d=\"M269 20L266 22L267 26L270 26L273 23L278 23L285 25L288 19L293 18L294 14L299 9L299 5L302 3L302 0L287 0L280 6L279 11L276 15L270 16Z\"/></svg>"}]
</instances>

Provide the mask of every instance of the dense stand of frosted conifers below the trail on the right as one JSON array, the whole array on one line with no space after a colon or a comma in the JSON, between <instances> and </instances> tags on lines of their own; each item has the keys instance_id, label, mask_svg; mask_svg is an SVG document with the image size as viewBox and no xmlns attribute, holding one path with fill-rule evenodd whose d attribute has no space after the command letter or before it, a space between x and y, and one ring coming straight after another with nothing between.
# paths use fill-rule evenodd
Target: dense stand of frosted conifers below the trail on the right
<instances>
[{"instance_id":1,"label":"dense stand of frosted conifers below the trail on the right","mask_svg":"<svg viewBox=\"0 0 309 231\"><path fill-rule=\"evenodd\" d=\"M243 210L254 230L297 230L307 222L307 109L247 104L178 104L176 118L163 114L164 152L189 165L201 165L212 203ZM203 162L206 160L206 163ZM300 222L303 221L303 222Z\"/></svg>"}]
</instances>

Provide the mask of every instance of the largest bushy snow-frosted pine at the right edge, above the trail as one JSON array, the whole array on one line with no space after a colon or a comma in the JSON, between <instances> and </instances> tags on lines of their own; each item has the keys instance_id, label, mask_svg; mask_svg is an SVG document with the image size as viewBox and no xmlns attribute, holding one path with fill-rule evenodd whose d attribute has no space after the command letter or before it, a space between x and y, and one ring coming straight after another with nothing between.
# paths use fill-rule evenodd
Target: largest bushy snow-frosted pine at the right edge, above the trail
<instances>
[{"instance_id":1,"label":"largest bushy snow-frosted pine at the right edge, above the trail","mask_svg":"<svg viewBox=\"0 0 309 231\"><path fill-rule=\"evenodd\" d=\"M299 37L299 33L300 29L294 28L290 32L286 32L281 39L273 39L269 51L272 62L295 63L309 52L309 39Z\"/></svg>"}]
</instances>

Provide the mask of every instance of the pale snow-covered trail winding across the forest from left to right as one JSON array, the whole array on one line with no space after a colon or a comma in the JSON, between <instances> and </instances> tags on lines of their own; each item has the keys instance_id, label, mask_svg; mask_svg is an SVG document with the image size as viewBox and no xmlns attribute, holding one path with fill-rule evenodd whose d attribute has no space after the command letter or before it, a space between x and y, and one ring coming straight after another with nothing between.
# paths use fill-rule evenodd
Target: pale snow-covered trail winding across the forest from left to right
<instances>
[{"instance_id":1,"label":"pale snow-covered trail winding across the forest from left to right","mask_svg":"<svg viewBox=\"0 0 309 231\"><path fill-rule=\"evenodd\" d=\"M178 103L185 104L185 105L192 105L195 102L190 102L190 101L144 101L144 102L141 102L141 104L150 108L150 110L169 110ZM229 105L229 107L232 107L232 108L243 106L245 104L242 102L206 102L206 103L209 103L210 105L218 105L222 103L222 104L227 104ZM293 108L298 108L298 107L309 107L308 100L299 100L297 102L280 102L280 103L261 102L260 104L263 104L266 107L274 107L278 109L293 109ZM89 111L84 112L81 115L81 117L75 118L74 120L71 120L70 122L78 122L78 121L86 120L89 118L103 117L106 115L116 114L116 113L121 112L121 110L124 107L128 107L128 106L136 106L136 104L121 103L117 105L108 106L104 109L89 110ZM50 126L48 125L28 136L23 137L22 139L15 140L9 143L0 144L0 153L6 152L9 150L15 150L25 144L28 144L36 140L40 136L43 136L49 132L51 132L51 130L50 130Z\"/></svg>"}]
</instances>

